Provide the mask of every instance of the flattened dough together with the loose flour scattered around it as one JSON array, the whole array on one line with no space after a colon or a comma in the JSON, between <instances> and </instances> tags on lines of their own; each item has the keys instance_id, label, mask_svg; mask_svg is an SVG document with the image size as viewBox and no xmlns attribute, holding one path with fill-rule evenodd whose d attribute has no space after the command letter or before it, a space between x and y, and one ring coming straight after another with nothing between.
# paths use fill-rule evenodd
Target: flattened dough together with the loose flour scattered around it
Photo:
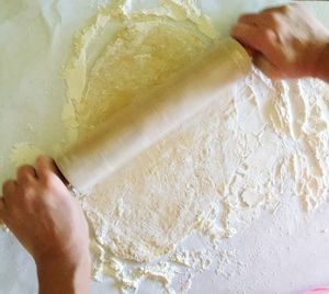
<instances>
[{"instance_id":1,"label":"flattened dough together with the loose flour scattered around it","mask_svg":"<svg viewBox=\"0 0 329 294\"><path fill-rule=\"evenodd\" d=\"M77 35L65 76L76 122L68 131L80 139L218 38L193 4L164 3L140 12L123 1L102 10ZM104 33L109 26L115 34ZM103 50L99 38L107 39ZM271 82L253 70L204 113L81 196L95 237L95 276L110 271L124 291L138 290L145 278L160 279L173 292L174 264L191 267L189 253L177 249L191 233L209 236L216 248L262 211L279 210L285 197L298 197L305 212L325 203L328 99L320 81ZM207 249L198 255L206 268L212 264Z\"/></svg>"}]
</instances>

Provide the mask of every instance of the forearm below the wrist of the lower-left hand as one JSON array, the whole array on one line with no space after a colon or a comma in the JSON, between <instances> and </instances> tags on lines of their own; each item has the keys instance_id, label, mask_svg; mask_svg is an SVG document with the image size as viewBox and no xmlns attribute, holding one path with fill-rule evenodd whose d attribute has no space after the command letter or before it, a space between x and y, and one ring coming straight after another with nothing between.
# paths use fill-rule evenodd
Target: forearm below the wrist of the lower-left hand
<instances>
[{"instance_id":1,"label":"forearm below the wrist of the lower-left hand","mask_svg":"<svg viewBox=\"0 0 329 294\"><path fill-rule=\"evenodd\" d=\"M76 262L46 261L37 264L39 294L89 294L90 257Z\"/></svg>"}]
</instances>

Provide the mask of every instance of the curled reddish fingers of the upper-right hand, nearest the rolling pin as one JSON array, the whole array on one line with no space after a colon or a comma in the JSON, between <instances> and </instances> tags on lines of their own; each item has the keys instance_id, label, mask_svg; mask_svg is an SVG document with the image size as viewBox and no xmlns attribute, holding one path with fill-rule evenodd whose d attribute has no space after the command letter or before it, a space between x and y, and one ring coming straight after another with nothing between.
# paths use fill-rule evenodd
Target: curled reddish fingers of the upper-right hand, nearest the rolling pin
<instances>
[{"instance_id":1,"label":"curled reddish fingers of the upper-right hand, nearest the rolling pin","mask_svg":"<svg viewBox=\"0 0 329 294\"><path fill-rule=\"evenodd\" d=\"M273 64L281 60L280 44L273 31L246 23L238 23L232 27L231 35L243 45L262 53Z\"/></svg>"}]
</instances>

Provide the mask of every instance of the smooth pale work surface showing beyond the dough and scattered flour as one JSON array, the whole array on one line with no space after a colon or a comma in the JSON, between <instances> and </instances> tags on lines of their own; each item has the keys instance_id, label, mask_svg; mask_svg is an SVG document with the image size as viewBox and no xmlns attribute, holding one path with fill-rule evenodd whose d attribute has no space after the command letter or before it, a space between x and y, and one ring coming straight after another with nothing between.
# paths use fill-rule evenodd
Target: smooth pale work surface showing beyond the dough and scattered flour
<instances>
[{"instance_id":1,"label":"smooth pale work surface showing beyond the dough and scattered flour","mask_svg":"<svg viewBox=\"0 0 329 294\"><path fill-rule=\"evenodd\" d=\"M53 150L65 132L60 123L65 84L59 72L70 54L72 36L101 1L0 0L0 146L1 180L14 165L10 149L33 142L43 151ZM246 10L258 10L269 1L203 1L205 11L220 31ZM250 1L252 2L252 1ZM273 1L274 2L274 1ZM328 3L311 3L327 21ZM10 32L10 33L9 33ZM35 46L35 44L38 44ZM33 128L33 129L32 129ZM285 199L275 214L263 213L251 226L219 244L220 272L195 275L190 293L297 293L329 284L329 207L310 215L296 199ZM194 236L191 246L202 249ZM0 234L0 293L36 293L33 261L11 234ZM115 281L94 282L93 293L116 293ZM161 293L157 283L145 282L139 293Z\"/></svg>"}]
</instances>

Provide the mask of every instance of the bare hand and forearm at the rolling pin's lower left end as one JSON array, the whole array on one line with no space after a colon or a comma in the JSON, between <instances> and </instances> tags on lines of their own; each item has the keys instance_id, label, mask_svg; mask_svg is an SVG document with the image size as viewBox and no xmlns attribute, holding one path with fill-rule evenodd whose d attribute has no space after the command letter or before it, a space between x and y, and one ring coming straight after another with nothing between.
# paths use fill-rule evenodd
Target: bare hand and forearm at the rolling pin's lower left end
<instances>
[{"instance_id":1,"label":"bare hand and forearm at the rolling pin's lower left end","mask_svg":"<svg viewBox=\"0 0 329 294\"><path fill-rule=\"evenodd\" d=\"M0 219L32 255L41 294L90 293L88 224L54 161L19 168L3 184Z\"/></svg>"}]
</instances>

